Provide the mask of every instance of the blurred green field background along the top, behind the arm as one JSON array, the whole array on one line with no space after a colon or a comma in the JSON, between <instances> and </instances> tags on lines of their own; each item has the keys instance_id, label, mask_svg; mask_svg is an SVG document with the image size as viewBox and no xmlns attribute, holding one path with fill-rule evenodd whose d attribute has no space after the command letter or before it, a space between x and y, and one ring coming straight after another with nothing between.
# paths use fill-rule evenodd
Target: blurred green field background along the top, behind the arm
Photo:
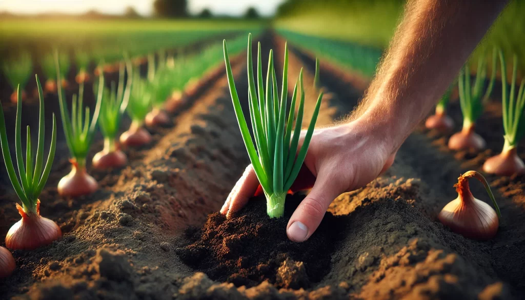
<instances>
[{"instance_id":1,"label":"blurred green field background along the top, behind the arm","mask_svg":"<svg viewBox=\"0 0 525 300\"><path fill-rule=\"evenodd\" d=\"M270 28L322 59L371 77L404 5L404 0L6 0L0 3L0 78L22 80L8 74L22 60L30 60L32 73L50 76L53 64L46 61L55 50L77 69L92 70L121 60L123 53L131 58L159 50L176 55L198 43ZM511 1L472 54L472 71L480 57L490 69L491 51L500 47L518 56L522 76L524 15L525 1Z\"/></svg>"}]
</instances>

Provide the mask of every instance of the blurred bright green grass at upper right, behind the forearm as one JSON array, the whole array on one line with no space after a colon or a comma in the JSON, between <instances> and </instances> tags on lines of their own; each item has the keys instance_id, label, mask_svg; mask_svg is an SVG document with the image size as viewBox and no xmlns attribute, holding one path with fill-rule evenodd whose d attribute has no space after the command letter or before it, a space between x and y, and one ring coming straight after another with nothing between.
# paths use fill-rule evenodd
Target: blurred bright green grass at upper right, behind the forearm
<instances>
[{"instance_id":1,"label":"blurred bright green grass at upper right, behind the forearm","mask_svg":"<svg viewBox=\"0 0 525 300\"><path fill-rule=\"evenodd\" d=\"M404 10L403 1L303 0L274 22L279 30L386 48ZM511 56L525 57L525 1L512 1L472 53L475 69L480 57L490 61L494 46ZM525 59L518 68L525 71ZM491 70L489 70L491 71Z\"/></svg>"}]
</instances>

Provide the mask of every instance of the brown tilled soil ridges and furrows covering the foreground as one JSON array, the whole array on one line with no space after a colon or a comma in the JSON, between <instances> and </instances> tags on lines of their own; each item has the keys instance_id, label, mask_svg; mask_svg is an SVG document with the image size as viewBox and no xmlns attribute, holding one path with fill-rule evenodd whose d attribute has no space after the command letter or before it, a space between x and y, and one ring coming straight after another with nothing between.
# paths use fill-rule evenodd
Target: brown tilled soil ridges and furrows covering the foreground
<instances>
[{"instance_id":1,"label":"brown tilled soil ridges and furrows covering the foreground","mask_svg":"<svg viewBox=\"0 0 525 300\"><path fill-rule=\"evenodd\" d=\"M266 33L259 40L263 53L274 48L276 73L282 74L282 39ZM313 57L290 45L289 61L288 92L301 66L308 87ZM233 65L233 73L245 104L244 59ZM321 64L320 74L326 96L318 125L327 126L358 104L362 80L327 63ZM216 213L249 160L225 73L203 87L172 115L173 126L150 129L150 146L125 149L127 167L100 172L88 165L101 186L90 196L65 199L57 194L58 180L70 168L67 152L59 152L67 151L62 140L57 149L62 155L40 200L41 214L57 222L64 237L35 251L14 251L17 270L0 281L0 298L524 298L525 177L487 176L502 214L494 239L471 241L437 221L440 209L456 198L458 175L480 171L484 160L502 147L497 96L477 127L487 150L450 151L449 136L421 126L385 174L335 199L323 220L327 229L313 235L312 246L288 242L283 230L287 218L269 220L264 201L251 201L230 220ZM317 95L306 92L304 119L309 120ZM449 113L459 130L457 99ZM102 149L102 141L92 148L88 161ZM522 158L523 148L520 144ZM481 184L472 181L470 187L476 198L490 203ZM300 198L293 199L287 201L288 216ZM2 178L0 236L19 220L16 201ZM264 240L267 234L275 236ZM209 255L201 261L188 255L197 248ZM265 264L267 270L257 268Z\"/></svg>"}]
</instances>

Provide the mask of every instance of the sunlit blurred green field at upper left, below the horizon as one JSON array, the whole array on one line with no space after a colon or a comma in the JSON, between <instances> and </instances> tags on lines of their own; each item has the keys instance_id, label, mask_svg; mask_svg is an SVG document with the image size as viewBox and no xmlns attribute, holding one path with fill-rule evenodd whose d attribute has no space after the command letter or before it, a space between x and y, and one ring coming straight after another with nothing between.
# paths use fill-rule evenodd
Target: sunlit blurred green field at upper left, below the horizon
<instances>
[{"instance_id":1,"label":"sunlit blurred green field at upper left, below the horizon","mask_svg":"<svg viewBox=\"0 0 525 300\"><path fill-rule=\"evenodd\" d=\"M255 20L162 20L162 19L32 19L0 20L0 60L9 61L27 50L41 64L58 49L82 53L90 61L115 63L123 51L131 58L159 49L174 49L210 37L258 30L266 21ZM80 51L81 50L81 51ZM78 61L76 57L72 60ZM81 60L86 65L86 57Z\"/></svg>"}]
</instances>

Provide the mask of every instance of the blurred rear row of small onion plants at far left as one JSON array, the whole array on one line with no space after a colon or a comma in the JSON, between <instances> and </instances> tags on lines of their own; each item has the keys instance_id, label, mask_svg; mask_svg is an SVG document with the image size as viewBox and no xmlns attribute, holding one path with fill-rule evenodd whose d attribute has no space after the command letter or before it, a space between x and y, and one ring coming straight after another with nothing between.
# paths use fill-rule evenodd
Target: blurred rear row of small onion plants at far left
<instances>
[{"instance_id":1,"label":"blurred rear row of small onion plants at far left","mask_svg":"<svg viewBox=\"0 0 525 300\"><path fill-rule=\"evenodd\" d=\"M228 35L235 36L242 30L231 32ZM60 48L59 50L59 60L60 60L60 76L63 79L61 84L62 87L67 87L70 82L68 82L68 75L72 69L72 66L75 66L76 77L75 80L77 83L84 82L89 80L93 76L91 71L97 76L99 69L106 72L116 72L119 69L120 61L122 61L123 50L125 49L125 54L130 57L130 60L134 65L140 65L145 63L147 60L148 54L154 53L159 49L161 50L158 53L159 56L166 56L170 60L183 60L187 54L184 54L184 48L188 45L196 45L197 43L203 43L208 39L214 39L219 32L215 30L202 31L202 32L177 32L174 33L172 38L154 38L149 37L148 40L143 42L138 40L133 40L133 43L130 43L127 46L120 45L119 47L108 47L103 43L99 48L90 49L89 47L83 47L82 45L77 45L74 49L69 48ZM224 32L220 32L224 34ZM168 43L169 42L169 43ZM41 70L44 77L46 78L46 83L43 88L44 92L55 93L57 91L57 72L55 69L55 50L49 50L43 54L36 54L27 49L21 49L18 53L6 57L6 60L2 63L2 71L4 77L7 79L9 85L11 86L13 93L10 100L16 102L16 88L18 85L22 88L22 99L26 98L25 87L28 84L31 74L38 73L35 70ZM179 57L180 56L180 57ZM38 62L38 65L35 65L35 62ZM92 69L92 65L97 65Z\"/></svg>"}]
</instances>

